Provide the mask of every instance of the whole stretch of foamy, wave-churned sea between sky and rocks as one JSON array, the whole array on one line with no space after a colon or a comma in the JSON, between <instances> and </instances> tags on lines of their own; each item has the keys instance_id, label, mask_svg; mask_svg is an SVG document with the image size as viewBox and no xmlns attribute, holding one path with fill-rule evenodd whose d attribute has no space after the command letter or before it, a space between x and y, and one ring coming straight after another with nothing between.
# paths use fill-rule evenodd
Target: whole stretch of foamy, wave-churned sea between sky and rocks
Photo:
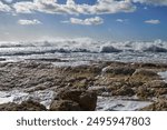
<instances>
[{"instance_id":1,"label":"whole stretch of foamy, wave-churned sea between sky and rocks","mask_svg":"<svg viewBox=\"0 0 167 130\"><path fill-rule=\"evenodd\" d=\"M24 59L61 59L73 64L89 61L167 62L167 41L98 41L89 38L50 41L0 42L0 58L7 61ZM68 62L59 62L63 66Z\"/></svg>"}]
</instances>

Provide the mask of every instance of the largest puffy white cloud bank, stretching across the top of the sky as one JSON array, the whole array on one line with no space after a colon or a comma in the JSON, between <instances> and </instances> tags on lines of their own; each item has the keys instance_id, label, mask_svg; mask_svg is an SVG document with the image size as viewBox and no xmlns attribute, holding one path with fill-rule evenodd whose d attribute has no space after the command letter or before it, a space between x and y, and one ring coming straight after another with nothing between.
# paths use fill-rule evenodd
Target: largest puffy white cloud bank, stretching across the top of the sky
<instances>
[{"instance_id":1,"label":"largest puffy white cloud bank, stretching across the top of the sky","mask_svg":"<svg viewBox=\"0 0 167 130\"><path fill-rule=\"evenodd\" d=\"M117 12L132 12L136 7L131 0L97 0L94 6L77 4L75 0L67 0L66 4L57 3L57 0L33 0L32 2L17 2L13 8L18 13L30 13L40 11L45 13L68 13L68 14L104 14Z\"/></svg>"}]
</instances>

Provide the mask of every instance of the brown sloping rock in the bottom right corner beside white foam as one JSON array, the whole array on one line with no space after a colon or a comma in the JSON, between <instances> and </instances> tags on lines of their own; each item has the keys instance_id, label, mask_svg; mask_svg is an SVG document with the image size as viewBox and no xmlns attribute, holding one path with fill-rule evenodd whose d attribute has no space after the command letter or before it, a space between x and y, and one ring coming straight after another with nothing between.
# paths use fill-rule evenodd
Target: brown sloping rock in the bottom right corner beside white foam
<instances>
[{"instance_id":1,"label":"brown sloping rock in the bottom right corner beside white foam","mask_svg":"<svg viewBox=\"0 0 167 130\"><path fill-rule=\"evenodd\" d=\"M143 111L167 111L167 101L166 100L159 100L157 102L154 102L153 104L143 108Z\"/></svg>"}]
</instances>

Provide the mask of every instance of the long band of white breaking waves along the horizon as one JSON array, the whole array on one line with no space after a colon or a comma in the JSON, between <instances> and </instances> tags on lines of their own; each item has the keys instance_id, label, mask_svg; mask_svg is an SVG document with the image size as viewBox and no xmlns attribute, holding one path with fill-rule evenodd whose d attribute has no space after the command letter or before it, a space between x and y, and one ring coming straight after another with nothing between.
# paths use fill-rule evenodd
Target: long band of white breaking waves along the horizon
<instances>
[{"instance_id":1,"label":"long band of white breaking waves along the horizon","mask_svg":"<svg viewBox=\"0 0 167 130\"><path fill-rule=\"evenodd\" d=\"M114 52L167 52L167 42L156 40L146 41L96 41L92 39L71 39L57 41L38 42L1 42L0 56L22 56L22 54L43 54L43 53L114 53Z\"/></svg>"}]
</instances>

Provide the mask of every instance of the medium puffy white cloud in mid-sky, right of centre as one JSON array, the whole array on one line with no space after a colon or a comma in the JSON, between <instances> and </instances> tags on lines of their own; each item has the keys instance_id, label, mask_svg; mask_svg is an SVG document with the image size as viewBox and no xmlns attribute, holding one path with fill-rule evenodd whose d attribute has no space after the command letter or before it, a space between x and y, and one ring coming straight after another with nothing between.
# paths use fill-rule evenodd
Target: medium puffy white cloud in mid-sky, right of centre
<instances>
[{"instance_id":1,"label":"medium puffy white cloud in mid-sky, right of centre","mask_svg":"<svg viewBox=\"0 0 167 130\"><path fill-rule=\"evenodd\" d=\"M70 22L73 23L73 24L91 26L91 24L101 24L101 23L104 23L104 19L101 19L100 17L88 18L88 19L70 18Z\"/></svg>"}]
</instances>

